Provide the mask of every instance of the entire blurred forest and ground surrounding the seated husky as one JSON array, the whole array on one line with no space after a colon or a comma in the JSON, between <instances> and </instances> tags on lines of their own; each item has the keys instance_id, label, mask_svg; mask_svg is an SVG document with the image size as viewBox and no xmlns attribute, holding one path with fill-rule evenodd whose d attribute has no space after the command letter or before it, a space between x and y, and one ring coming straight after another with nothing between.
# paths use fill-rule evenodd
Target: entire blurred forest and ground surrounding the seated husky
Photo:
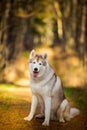
<instances>
[{"instance_id":1,"label":"entire blurred forest and ground surrounding the seated husky","mask_svg":"<svg viewBox=\"0 0 87 130\"><path fill-rule=\"evenodd\" d=\"M30 51L48 53L65 96L81 114L48 130L87 129L87 0L0 0L0 129L45 130L29 113ZM39 106L37 112L39 110Z\"/></svg>"}]
</instances>

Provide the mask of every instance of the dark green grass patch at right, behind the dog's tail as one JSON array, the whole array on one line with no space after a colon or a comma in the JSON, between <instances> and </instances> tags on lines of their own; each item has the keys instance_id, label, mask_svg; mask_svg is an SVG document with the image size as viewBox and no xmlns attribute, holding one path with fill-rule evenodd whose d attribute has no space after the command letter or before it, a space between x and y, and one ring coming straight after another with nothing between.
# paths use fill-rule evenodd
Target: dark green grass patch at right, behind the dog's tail
<instances>
[{"instance_id":1,"label":"dark green grass patch at right, behind the dog's tail","mask_svg":"<svg viewBox=\"0 0 87 130\"><path fill-rule=\"evenodd\" d=\"M87 89L82 88L64 88L65 95L70 97L82 112L87 113Z\"/></svg>"}]
</instances>

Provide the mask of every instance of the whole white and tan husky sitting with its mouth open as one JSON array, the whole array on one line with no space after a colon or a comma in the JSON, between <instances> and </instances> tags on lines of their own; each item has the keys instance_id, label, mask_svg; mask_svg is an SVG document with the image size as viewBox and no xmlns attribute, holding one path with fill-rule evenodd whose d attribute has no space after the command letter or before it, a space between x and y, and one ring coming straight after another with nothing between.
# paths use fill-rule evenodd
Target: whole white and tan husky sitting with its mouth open
<instances>
[{"instance_id":1,"label":"whole white and tan husky sitting with its mouth open","mask_svg":"<svg viewBox=\"0 0 87 130\"><path fill-rule=\"evenodd\" d=\"M47 54L40 55L32 50L29 70L32 103L30 113L24 120L32 120L38 102L41 104L41 113L36 117L45 118L42 123L44 126L49 126L50 119L65 122L80 113L78 109L70 107L64 96L61 80L48 63Z\"/></svg>"}]
</instances>

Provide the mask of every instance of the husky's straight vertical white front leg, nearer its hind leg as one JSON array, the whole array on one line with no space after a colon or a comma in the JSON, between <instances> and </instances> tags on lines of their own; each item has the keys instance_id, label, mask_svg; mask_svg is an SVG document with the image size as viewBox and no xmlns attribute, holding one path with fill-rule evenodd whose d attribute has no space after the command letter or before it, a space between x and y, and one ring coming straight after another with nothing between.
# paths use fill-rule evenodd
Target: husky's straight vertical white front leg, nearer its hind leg
<instances>
[{"instance_id":1,"label":"husky's straight vertical white front leg, nearer its hind leg","mask_svg":"<svg viewBox=\"0 0 87 130\"><path fill-rule=\"evenodd\" d=\"M44 103L45 103L45 120L42 123L42 125L49 126L50 111L51 111L51 97L45 97Z\"/></svg>"}]
</instances>

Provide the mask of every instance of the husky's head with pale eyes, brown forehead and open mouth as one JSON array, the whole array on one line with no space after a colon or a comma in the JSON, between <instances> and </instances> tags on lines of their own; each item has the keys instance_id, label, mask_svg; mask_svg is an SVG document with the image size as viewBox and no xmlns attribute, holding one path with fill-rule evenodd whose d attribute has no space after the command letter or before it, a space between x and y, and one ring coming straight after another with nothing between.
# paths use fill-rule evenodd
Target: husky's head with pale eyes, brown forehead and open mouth
<instances>
[{"instance_id":1,"label":"husky's head with pale eyes, brown forehead and open mouth","mask_svg":"<svg viewBox=\"0 0 87 130\"><path fill-rule=\"evenodd\" d=\"M47 54L37 54L32 50L29 57L29 71L33 78L44 75L47 66Z\"/></svg>"}]
</instances>

